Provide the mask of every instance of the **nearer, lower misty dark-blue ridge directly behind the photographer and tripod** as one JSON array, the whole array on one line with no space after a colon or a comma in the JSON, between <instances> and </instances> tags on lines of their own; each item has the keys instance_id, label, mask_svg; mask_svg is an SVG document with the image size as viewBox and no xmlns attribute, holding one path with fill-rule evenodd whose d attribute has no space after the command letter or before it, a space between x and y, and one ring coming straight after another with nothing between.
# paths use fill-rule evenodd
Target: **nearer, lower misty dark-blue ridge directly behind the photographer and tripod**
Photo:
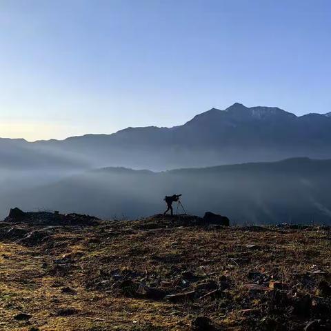
<instances>
[{"instance_id":1,"label":"nearer, lower misty dark-blue ridge directly behind the photographer and tripod","mask_svg":"<svg viewBox=\"0 0 331 331\"><path fill-rule=\"evenodd\" d=\"M166 172L104 168L1 197L4 210L62 210L106 219L165 210L163 197L182 193L185 209L211 210L233 223L331 225L331 160L288 159ZM176 204L174 204L176 210Z\"/></svg>"}]
</instances>

